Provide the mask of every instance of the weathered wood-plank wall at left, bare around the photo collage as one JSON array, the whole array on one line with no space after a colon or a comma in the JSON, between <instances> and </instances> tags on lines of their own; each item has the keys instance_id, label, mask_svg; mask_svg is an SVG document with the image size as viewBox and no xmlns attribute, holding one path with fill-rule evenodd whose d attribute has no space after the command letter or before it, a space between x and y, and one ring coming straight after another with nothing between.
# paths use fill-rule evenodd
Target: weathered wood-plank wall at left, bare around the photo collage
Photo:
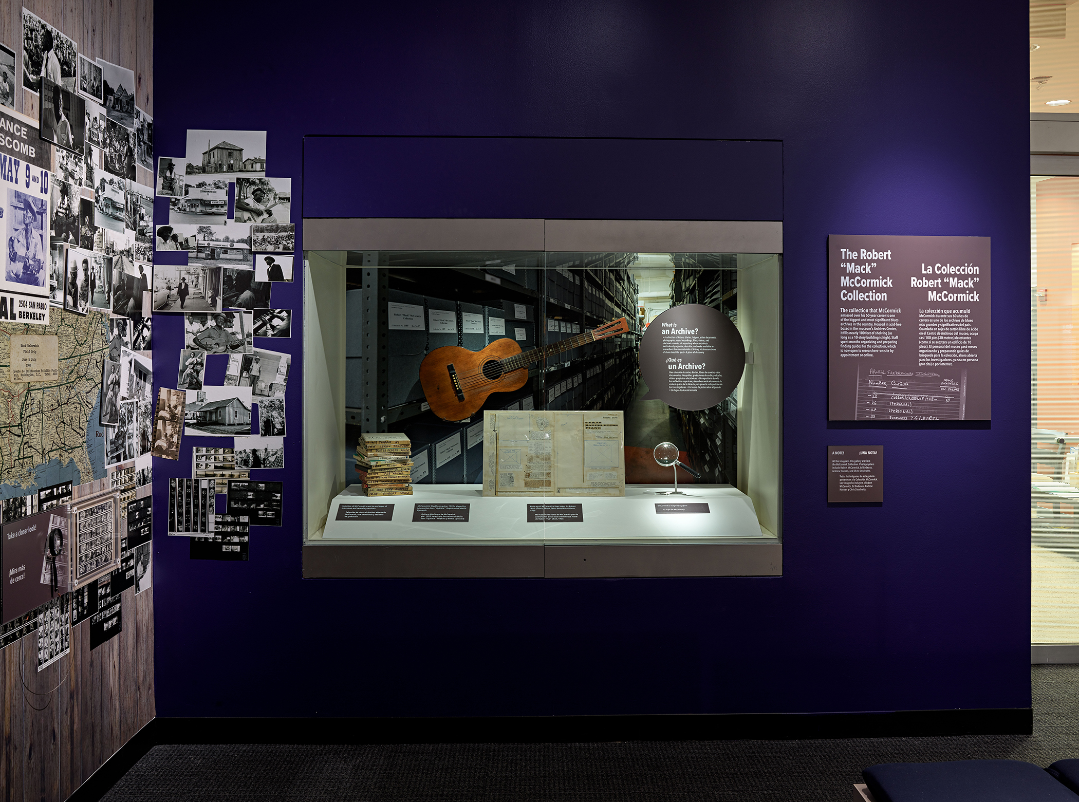
<instances>
[{"instance_id":1,"label":"weathered wood-plank wall at left, bare around the photo collage","mask_svg":"<svg viewBox=\"0 0 1079 802\"><path fill-rule=\"evenodd\" d=\"M136 104L153 115L153 0L0 2L0 42L15 51L19 85L24 5L73 39L87 58L134 70ZM38 97L16 89L15 110L38 119ZM142 167L136 177L153 183ZM40 674L37 634L0 651L0 802L63 802L154 717L153 592L136 597L127 590L121 603L119 636L91 651L84 622L71 630L70 654ZM24 678L44 695L24 690Z\"/></svg>"}]
</instances>

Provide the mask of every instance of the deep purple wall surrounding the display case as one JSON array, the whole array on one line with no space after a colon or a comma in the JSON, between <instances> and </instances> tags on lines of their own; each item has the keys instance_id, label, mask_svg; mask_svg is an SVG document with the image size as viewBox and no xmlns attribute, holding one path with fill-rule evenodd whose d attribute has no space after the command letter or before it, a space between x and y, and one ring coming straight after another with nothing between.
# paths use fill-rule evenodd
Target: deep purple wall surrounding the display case
<instances>
[{"instance_id":1,"label":"deep purple wall surrounding the display case","mask_svg":"<svg viewBox=\"0 0 1079 802\"><path fill-rule=\"evenodd\" d=\"M262 473L285 473L295 495L282 529L252 534L250 562L190 561L187 542L165 535L167 477L190 476L195 440L179 465L155 461L159 715L1029 706L1023 8L327 5L304 17L251 4L230 14L242 24L216 26L194 21L219 3L159 3L159 154L181 154L188 127L267 128L269 173L292 176L295 219L311 134L782 141L784 575L303 581L293 336L288 468ZM192 46L211 55L181 55ZM429 207L423 183L413 189L387 214ZM305 191L326 214L316 198L340 188ZM724 188L687 191L679 209ZM678 216L663 201L648 216ZM830 233L993 237L992 425L828 424ZM300 284L273 302L299 310ZM169 386L180 336L178 318L155 317L158 381ZM856 443L887 447L883 507L825 503L824 447Z\"/></svg>"}]
</instances>

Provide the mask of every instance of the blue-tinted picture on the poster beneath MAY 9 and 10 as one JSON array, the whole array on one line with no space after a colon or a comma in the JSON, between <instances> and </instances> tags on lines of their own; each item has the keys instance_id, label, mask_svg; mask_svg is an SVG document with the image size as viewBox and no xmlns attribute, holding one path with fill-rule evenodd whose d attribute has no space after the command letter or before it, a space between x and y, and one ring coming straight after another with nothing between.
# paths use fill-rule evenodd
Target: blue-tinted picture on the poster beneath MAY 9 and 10
<instances>
[{"instance_id":1,"label":"blue-tinted picture on the poster beneath MAY 9 and 10","mask_svg":"<svg viewBox=\"0 0 1079 802\"><path fill-rule=\"evenodd\" d=\"M9 187L4 200L0 215L0 231L6 222L8 241L3 289L44 297L49 295L49 196Z\"/></svg>"}]
</instances>

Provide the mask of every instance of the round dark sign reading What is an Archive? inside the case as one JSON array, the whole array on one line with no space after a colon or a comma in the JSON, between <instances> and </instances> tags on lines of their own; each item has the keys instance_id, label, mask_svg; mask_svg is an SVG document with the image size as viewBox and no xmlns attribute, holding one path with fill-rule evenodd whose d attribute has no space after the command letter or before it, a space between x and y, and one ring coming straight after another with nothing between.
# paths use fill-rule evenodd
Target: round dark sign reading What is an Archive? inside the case
<instances>
[{"instance_id":1,"label":"round dark sign reading What is an Archive? inside the case","mask_svg":"<svg viewBox=\"0 0 1079 802\"><path fill-rule=\"evenodd\" d=\"M659 398L674 409L714 407L738 386L746 344L730 318L702 303L671 307L644 330L642 400Z\"/></svg>"}]
</instances>

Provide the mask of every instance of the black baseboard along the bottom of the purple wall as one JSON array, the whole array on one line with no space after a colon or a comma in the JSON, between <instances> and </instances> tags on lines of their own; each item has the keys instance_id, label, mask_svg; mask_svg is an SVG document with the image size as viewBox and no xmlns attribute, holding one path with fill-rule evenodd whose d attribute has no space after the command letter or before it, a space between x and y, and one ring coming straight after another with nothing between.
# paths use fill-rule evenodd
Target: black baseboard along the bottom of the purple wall
<instances>
[{"instance_id":1,"label":"black baseboard along the bottom of the purple wall","mask_svg":"<svg viewBox=\"0 0 1079 802\"><path fill-rule=\"evenodd\" d=\"M1028 735L1030 708L490 718L159 718L159 744L453 744Z\"/></svg>"}]
</instances>

